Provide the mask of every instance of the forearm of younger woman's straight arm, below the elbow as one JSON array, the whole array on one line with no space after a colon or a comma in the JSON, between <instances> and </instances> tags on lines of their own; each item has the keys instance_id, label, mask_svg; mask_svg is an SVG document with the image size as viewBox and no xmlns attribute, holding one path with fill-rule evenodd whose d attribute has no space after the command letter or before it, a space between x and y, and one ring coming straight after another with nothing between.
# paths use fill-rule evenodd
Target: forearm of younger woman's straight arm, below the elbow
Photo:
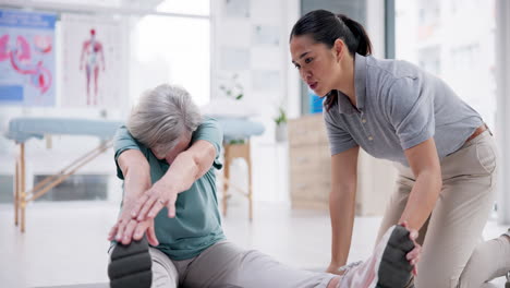
<instances>
[{"instance_id":1,"label":"forearm of younger woman's straight arm, below the elbow","mask_svg":"<svg viewBox=\"0 0 510 288\"><path fill-rule=\"evenodd\" d=\"M345 187L331 191L329 214L331 217L331 264L343 266L349 257L352 228L354 224L356 187Z\"/></svg>"}]
</instances>

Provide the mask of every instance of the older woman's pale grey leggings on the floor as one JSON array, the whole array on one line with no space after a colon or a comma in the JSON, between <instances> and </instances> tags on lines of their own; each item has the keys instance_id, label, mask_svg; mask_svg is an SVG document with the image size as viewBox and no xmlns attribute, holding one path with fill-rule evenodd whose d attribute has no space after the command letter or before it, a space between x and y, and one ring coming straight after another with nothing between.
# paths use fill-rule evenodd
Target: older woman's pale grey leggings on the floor
<instances>
[{"instance_id":1,"label":"older woman's pale grey leggings on the floor","mask_svg":"<svg viewBox=\"0 0 510 288\"><path fill-rule=\"evenodd\" d=\"M327 287L332 274L283 265L255 250L242 250L221 241L198 256L172 261L150 248L153 288L173 287Z\"/></svg>"}]
</instances>

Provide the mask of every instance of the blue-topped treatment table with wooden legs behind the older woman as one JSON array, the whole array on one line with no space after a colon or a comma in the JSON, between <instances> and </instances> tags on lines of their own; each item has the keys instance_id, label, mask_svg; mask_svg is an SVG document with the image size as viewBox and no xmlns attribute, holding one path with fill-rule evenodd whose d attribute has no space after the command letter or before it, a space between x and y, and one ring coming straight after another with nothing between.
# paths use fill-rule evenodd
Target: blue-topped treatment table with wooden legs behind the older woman
<instances>
[{"instance_id":1,"label":"blue-topped treatment table with wooden legs behind the older woman","mask_svg":"<svg viewBox=\"0 0 510 288\"><path fill-rule=\"evenodd\" d=\"M260 135L264 125L243 118L217 118L223 129L224 142L224 179L223 179L223 216L227 215L229 187L241 192L248 200L248 217L253 217L253 191L252 191L252 160L250 156L250 137ZM25 231L25 209L27 203L35 201L60 184L81 167L95 159L101 153L112 146L112 137L117 129L122 124L118 121L69 119L69 118L14 118L9 122L5 136L13 140L19 152L15 159L14 171L14 224L21 224L21 231ZM39 181L29 191L25 189L25 143L31 139L42 139L51 135L89 135L100 139L100 144L94 149L82 155L58 173ZM247 191L233 185L230 180L230 165L234 158L244 158L248 171Z\"/></svg>"}]
</instances>

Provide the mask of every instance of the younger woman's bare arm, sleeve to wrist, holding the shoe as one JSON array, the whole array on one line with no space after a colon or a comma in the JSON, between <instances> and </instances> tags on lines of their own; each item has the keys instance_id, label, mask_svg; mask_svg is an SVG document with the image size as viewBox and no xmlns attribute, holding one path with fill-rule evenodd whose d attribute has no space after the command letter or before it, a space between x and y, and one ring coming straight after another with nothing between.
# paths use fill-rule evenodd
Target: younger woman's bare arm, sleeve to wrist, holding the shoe
<instances>
[{"instance_id":1,"label":"younger woman's bare arm, sleeve to wrist, holding the shoe","mask_svg":"<svg viewBox=\"0 0 510 288\"><path fill-rule=\"evenodd\" d=\"M416 179L399 223L420 230L430 215L442 187L441 167L434 137L404 151Z\"/></svg>"}]
</instances>

